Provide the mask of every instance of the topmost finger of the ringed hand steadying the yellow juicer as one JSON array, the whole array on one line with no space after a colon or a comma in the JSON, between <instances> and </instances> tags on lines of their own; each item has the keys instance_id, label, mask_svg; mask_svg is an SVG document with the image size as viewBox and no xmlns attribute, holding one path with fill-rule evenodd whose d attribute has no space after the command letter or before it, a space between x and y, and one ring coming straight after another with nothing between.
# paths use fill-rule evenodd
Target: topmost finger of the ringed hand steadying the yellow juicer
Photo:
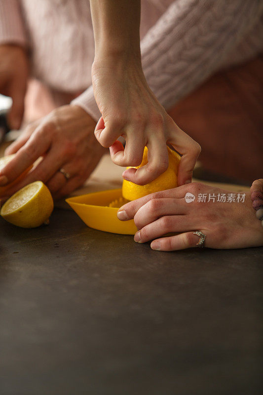
<instances>
[{"instance_id":1,"label":"topmost finger of the ringed hand steadying the yellow juicer","mask_svg":"<svg viewBox=\"0 0 263 395\"><path fill-rule=\"evenodd\" d=\"M181 187L167 189L166 191L155 192L154 194L150 194L140 199L130 201L129 203L124 204L120 207L117 212L117 217L121 221L127 221L134 218L137 211L144 206L151 199L159 199L159 198L176 198L181 199L185 197L187 193L187 186L182 185Z\"/></svg>"}]
</instances>

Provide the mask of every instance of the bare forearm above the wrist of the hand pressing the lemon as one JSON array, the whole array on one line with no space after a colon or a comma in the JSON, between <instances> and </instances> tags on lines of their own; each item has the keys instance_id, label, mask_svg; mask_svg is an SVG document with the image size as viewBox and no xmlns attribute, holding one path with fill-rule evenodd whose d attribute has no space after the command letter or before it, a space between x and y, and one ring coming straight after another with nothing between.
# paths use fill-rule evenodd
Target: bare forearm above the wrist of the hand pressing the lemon
<instances>
[{"instance_id":1,"label":"bare forearm above the wrist of the hand pressing the lemon","mask_svg":"<svg viewBox=\"0 0 263 395\"><path fill-rule=\"evenodd\" d=\"M90 0L95 59L127 54L140 59L140 0Z\"/></svg>"}]
</instances>

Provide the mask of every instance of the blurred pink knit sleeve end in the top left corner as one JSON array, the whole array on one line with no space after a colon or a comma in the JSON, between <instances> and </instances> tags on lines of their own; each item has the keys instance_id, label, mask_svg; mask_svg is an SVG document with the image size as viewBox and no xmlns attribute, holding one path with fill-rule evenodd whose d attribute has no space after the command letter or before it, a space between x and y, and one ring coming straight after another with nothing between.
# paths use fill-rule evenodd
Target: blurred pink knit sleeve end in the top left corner
<instances>
[{"instance_id":1,"label":"blurred pink knit sleeve end in the top left corner","mask_svg":"<svg viewBox=\"0 0 263 395\"><path fill-rule=\"evenodd\" d=\"M0 44L6 43L27 45L18 0L0 0Z\"/></svg>"}]
</instances>

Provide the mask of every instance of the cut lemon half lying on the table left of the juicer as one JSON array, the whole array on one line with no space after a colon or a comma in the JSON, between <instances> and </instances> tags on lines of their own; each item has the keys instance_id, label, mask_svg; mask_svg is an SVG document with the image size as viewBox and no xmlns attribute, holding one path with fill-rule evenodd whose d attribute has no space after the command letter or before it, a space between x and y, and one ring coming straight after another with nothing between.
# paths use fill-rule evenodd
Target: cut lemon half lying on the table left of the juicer
<instances>
[{"instance_id":1,"label":"cut lemon half lying on the table left of the juicer","mask_svg":"<svg viewBox=\"0 0 263 395\"><path fill-rule=\"evenodd\" d=\"M49 189L41 181L35 181L9 197L0 215L21 228L37 228L48 220L53 208Z\"/></svg>"}]
</instances>

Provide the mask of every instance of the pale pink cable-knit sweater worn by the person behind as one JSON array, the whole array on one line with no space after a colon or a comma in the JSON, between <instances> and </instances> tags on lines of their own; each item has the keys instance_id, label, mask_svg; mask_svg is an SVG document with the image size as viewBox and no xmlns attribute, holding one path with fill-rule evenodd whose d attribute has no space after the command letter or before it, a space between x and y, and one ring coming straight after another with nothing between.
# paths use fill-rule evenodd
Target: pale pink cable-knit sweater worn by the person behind
<instances>
[{"instance_id":1,"label":"pale pink cable-knit sweater worn by the person behind","mask_svg":"<svg viewBox=\"0 0 263 395\"><path fill-rule=\"evenodd\" d=\"M141 38L146 79L169 109L215 72L263 52L263 0L142 0ZM34 77L84 91L72 103L100 117L88 0L0 0L0 44L8 42L31 49Z\"/></svg>"}]
</instances>

